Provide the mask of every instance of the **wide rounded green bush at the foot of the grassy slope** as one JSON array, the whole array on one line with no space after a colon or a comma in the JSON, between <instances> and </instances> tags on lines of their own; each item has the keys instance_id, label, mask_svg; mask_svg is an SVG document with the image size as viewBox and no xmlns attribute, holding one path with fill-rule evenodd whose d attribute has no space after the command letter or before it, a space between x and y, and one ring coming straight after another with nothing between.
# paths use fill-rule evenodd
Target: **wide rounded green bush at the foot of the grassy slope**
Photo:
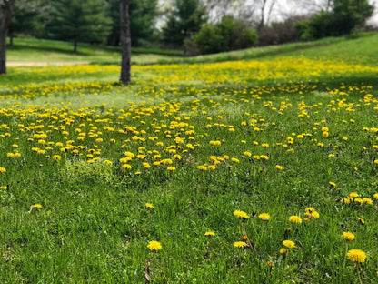
<instances>
[{"instance_id":1,"label":"wide rounded green bush at the foot of the grassy slope","mask_svg":"<svg viewBox=\"0 0 378 284\"><path fill-rule=\"evenodd\" d=\"M185 55L212 54L256 46L258 35L243 21L224 16L216 25L203 25L185 41Z\"/></svg>"}]
</instances>

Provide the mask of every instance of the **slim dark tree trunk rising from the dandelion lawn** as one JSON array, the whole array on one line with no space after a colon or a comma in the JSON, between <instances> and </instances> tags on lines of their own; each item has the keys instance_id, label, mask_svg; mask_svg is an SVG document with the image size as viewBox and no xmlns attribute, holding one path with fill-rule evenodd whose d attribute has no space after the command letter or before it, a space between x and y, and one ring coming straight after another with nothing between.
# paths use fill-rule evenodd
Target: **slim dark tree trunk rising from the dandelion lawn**
<instances>
[{"instance_id":1,"label":"slim dark tree trunk rising from the dandelion lawn","mask_svg":"<svg viewBox=\"0 0 378 284\"><path fill-rule=\"evenodd\" d=\"M131 80L131 35L130 35L130 0L120 0L120 40L122 49L121 77L122 84L128 84Z\"/></svg>"}]
</instances>

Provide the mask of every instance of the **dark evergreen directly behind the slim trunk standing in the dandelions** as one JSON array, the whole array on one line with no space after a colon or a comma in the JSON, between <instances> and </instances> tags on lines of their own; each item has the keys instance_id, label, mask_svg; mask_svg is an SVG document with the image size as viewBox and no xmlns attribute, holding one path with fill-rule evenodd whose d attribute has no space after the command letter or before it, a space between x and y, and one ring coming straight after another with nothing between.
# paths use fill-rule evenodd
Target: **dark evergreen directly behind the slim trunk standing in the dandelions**
<instances>
[{"instance_id":1,"label":"dark evergreen directly behind the slim trunk standing in the dandelions","mask_svg":"<svg viewBox=\"0 0 378 284\"><path fill-rule=\"evenodd\" d=\"M107 43L112 46L119 44L119 0L107 0L110 5L110 17L113 20L112 32ZM158 0L133 0L130 3L130 30L133 46L142 46L144 42L154 41L155 19L157 17Z\"/></svg>"}]
</instances>

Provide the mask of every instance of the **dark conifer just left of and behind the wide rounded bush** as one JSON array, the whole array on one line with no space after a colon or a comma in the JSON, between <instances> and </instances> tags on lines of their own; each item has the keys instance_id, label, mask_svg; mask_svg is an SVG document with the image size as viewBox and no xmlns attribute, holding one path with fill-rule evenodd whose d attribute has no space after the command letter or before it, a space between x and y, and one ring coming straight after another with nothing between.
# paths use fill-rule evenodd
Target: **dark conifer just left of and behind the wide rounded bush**
<instances>
[{"instance_id":1,"label":"dark conifer just left of and behind the wide rounded bush","mask_svg":"<svg viewBox=\"0 0 378 284\"><path fill-rule=\"evenodd\" d=\"M183 46L184 39L197 33L205 23L204 7L199 0L174 0L174 8L163 29L164 42Z\"/></svg>"}]
</instances>

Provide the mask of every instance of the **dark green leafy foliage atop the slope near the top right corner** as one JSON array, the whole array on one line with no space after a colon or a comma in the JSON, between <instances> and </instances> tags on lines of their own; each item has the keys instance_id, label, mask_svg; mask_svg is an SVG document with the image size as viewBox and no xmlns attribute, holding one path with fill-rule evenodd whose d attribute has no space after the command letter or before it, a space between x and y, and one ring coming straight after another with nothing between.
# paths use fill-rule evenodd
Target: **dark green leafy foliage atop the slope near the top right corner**
<instances>
[{"instance_id":1,"label":"dark green leafy foliage atop the slope near the top right corner","mask_svg":"<svg viewBox=\"0 0 378 284\"><path fill-rule=\"evenodd\" d=\"M332 11L321 11L311 21L297 24L303 39L348 35L373 15L373 5L367 0L334 0Z\"/></svg>"}]
</instances>

